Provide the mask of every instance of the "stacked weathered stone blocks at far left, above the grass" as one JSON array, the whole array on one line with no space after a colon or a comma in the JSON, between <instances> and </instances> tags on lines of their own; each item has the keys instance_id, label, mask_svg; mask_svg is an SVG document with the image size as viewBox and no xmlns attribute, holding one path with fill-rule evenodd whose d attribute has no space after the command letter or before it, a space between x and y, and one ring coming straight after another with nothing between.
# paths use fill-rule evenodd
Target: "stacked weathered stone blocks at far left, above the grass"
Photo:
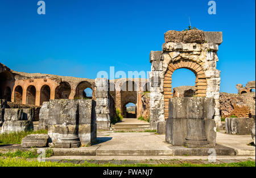
<instances>
[{"instance_id":1,"label":"stacked weathered stone blocks at far left, above the grass","mask_svg":"<svg viewBox=\"0 0 256 178\"><path fill-rule=\"evenodd\" d=\"M2 133L33 129L31 115L28 117L28 114L30 113L23 113L23 109L5 108L5 122L3 122Z\"/></svg>"}]
</instances>

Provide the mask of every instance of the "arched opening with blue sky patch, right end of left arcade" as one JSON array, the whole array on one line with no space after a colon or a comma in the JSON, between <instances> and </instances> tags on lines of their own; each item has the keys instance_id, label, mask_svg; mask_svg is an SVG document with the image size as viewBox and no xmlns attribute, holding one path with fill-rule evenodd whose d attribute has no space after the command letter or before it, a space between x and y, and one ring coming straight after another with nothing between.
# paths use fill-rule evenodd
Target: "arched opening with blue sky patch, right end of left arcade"
<instances>
[{"instance_id":1,"label":"arched opening with blue sky patch, right end of left arcade","mask_svg":"<svg viewBox=\"0 0 256 178\"><path fill-rule=\"evenodd\" d=\"M76 88L75 99L92 99L92 85L88 81L82 81Z\"/></svg>"}]
</instances>

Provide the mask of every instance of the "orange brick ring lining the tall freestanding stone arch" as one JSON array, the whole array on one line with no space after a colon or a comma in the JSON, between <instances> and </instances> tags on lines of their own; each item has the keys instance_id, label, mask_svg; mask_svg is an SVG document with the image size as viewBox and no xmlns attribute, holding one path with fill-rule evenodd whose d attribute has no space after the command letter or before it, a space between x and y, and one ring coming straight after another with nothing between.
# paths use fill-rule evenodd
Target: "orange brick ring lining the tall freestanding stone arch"
<instances>
[{"instance_id":1,"label":"orange brick ring lining the tall freestanding stone arch","mask_svg":"<svg viewBox=\"0 0 256 178\"><path fill-rule=\"evenodd\" d=\"M169 98L172 98L172 73L176 69L189 69L192 71L196 76L196 96L206 97L207 92L207 80L205 78L205 74L203 68L200 64L197 64L193 61L177 61L175 63L170 63L168 65L168 69L164 74L164 117L168 118L168 105L169 105Z\"/></svg>"}]
</instances>

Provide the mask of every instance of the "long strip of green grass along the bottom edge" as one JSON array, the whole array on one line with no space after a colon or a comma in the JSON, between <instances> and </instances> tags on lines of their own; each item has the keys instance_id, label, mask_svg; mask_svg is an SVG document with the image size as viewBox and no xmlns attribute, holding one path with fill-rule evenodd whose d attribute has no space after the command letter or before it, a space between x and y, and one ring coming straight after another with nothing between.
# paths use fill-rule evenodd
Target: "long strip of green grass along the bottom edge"
<instances>
[{"instance_id":1,"label":"long strip of green grass along the bottom edge","mask_svg":"<svg viewBox=\"0 0 256 178\"><path fill-rule=\"evenodd\" d=\"M57 162L38 162L37 160L26 160L24 158L0 158L0 167L255 167L255 162L247 160L241 163L229 164L94 164L94 163L57 163Z\"/></svg>"}]
</instances>

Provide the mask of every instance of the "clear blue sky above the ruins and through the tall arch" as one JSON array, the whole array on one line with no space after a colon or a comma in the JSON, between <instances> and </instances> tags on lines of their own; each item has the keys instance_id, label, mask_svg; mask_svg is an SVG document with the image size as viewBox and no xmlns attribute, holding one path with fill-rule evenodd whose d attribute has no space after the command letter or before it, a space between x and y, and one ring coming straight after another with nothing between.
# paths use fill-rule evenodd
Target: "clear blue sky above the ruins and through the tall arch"
<instances>
[{"instance_id":1,"label":"clear blue sky above the ruins and through the tall arch","mask_svg":"<svg viewBox=\"0 0 256 178\"><path fill-rule=\"evenodd\" d=\"M222 31L217 68L221 92L255 80L255 0L82 1L0 0L0 63L28 73L96 78L98 71L150 71L150 51L162 50L164 32L193 27ZM191 71L174 72L173 86L194 85Z\"/></svg>"}]
</instances>

